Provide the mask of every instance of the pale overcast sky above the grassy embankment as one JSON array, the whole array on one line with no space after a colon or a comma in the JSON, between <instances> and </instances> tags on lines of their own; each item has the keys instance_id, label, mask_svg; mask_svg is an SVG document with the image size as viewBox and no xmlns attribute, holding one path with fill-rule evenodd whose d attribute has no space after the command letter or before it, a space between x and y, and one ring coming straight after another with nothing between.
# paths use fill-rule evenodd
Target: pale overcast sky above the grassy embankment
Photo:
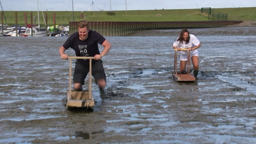
<instances>
[{"instance_id":1,"label":"pale overcast sky above the grassy embankment","mask_svg":"<svg viewBox=\"0 0 256 144\"><path fill-rule=\"evenodd\" d=\"M3 10L37 10L37 0L0 0L0 2ZM39 11L72 11L72 9L107 11L126 10L126 7L127 10L227 8L256 7L256 0L38 0L38 7Z\"/></svg>"}]
</instances>

